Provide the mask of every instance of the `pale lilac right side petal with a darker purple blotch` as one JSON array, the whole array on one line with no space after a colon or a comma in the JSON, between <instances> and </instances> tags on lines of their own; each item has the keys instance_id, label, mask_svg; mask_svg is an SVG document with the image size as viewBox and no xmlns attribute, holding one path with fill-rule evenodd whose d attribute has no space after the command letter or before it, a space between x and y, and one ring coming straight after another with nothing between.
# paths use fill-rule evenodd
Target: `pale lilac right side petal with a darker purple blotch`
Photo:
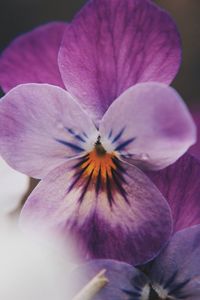
<instances>
[{"instance_id":1,"label":"pale lilac right side petal with a darker purple blotch","mask_svg":"<svg viewBox=\"0 0 200 300\"><path fill-rule=\"evenodd\" d=\"M150 169L172 164L196 139L187 107L162 83L141 83L124 92L105 113L100 132L129 162Z\"/></svg>"}]
</instances>

